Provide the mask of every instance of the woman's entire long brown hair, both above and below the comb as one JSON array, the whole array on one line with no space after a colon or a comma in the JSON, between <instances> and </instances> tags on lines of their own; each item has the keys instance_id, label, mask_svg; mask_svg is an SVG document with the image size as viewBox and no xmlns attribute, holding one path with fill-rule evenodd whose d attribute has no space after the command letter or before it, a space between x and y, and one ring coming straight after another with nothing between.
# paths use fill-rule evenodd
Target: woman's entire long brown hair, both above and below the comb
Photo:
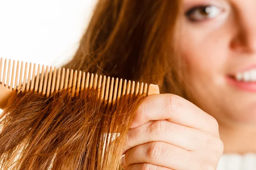
<instances>
[{"instance_id":1,"label":"woman's entire long brown hair, both above and below the comb","mask_svg":"<svg viewBox=\"0 0 256 170\"><path fill-rule=\"evenodd\" d=\"M156 83L161 93L184 96L175 45L179 11L179 0L99 0L63 67ZM93 89L78 98L67 91L49 99L14 92L0 115L0 169L115 170L144 97L108 107Z\"/></svg>"}]
</instances>

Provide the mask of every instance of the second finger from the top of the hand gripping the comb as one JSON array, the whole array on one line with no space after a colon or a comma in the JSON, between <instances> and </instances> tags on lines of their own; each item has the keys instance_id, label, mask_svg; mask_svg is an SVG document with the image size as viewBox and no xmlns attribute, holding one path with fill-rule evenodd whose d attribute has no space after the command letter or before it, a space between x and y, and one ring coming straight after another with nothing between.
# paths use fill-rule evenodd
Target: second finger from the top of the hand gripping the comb
<instances>
[{"instance_id":1,"label":"second finger from the top of the hand gripping the comb","mask_svg":"<svg viewBox=\"0 0 256 170\"><path fill-rule=\"evenodd\" d=\"M199 137L198 137L199 136ZM207 140L216 138L204 131L186 127L167 120L150 121L129 129L124 152L148 142L166 142L188 151L201 148Z\"/></svg>"}]
</instances>

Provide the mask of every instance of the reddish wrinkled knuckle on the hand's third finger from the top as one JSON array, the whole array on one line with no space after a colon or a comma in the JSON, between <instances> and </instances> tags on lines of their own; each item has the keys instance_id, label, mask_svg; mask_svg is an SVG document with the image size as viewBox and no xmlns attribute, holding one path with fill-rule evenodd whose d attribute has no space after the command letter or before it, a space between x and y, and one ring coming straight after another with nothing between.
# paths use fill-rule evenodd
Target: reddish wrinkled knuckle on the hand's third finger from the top
<instances>
[{"instance_id":1,"label":"reddish wrinkled knuckle on the hand's third finger from the top","mask_svg":"<svg viewBox=\"0 0 256 170\"><path fill-rule=\"evenodd\" d=\"M149 160L155 160L162 154L163 144L161 142L151 142L148 144L147 157Z\"/></svg>"}]
</instances>

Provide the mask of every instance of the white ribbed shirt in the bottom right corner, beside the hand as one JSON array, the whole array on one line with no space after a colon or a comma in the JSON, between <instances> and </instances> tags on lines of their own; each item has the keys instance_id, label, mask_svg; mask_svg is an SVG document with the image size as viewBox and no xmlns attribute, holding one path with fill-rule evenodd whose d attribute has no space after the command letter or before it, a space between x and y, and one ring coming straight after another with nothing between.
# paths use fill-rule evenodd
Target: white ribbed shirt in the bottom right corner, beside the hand
<instances>
[{"instance_id":1,"label":"white ribbed shirt in the bottom right corner, beside the hand","mask_svg":"<svg viewBox=\"0 0 256 170\"><path fill-rule=\"evenodd\" d=\"M223 154L217 170L256 170L256 154Z\"/></svg>"}]
</instances>

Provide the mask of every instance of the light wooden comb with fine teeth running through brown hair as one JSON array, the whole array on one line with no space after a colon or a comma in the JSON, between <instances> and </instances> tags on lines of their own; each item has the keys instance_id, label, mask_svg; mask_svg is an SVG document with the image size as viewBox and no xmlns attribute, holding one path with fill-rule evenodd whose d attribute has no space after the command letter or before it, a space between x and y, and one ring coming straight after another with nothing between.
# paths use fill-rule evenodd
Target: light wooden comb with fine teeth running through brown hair
<instances>
[{"instance_id":1,"label":"light wooden comb with fine teeth running through brown hair","mask_svg":"<svg viewBox=\"0 0 256 170\"><path fill-rule=\"evenodd\" d=\"M4 61L3 61L4 60ZM33 65L33 67L32 67ZM41 71L41 74L40 74ZM48 72L49 71L49 72ZM0 109L5 108L12 91L23 93L34 91L49 97L62 90L69 89L72 96L78 96L86 88L97 88L98 96L108 103L115 104L124 95L159 94L158 85L131 80L123 81L113 77L98 76L65 68L36 65L32 63L0 59Z\"/></svg>"}]
</instances>

